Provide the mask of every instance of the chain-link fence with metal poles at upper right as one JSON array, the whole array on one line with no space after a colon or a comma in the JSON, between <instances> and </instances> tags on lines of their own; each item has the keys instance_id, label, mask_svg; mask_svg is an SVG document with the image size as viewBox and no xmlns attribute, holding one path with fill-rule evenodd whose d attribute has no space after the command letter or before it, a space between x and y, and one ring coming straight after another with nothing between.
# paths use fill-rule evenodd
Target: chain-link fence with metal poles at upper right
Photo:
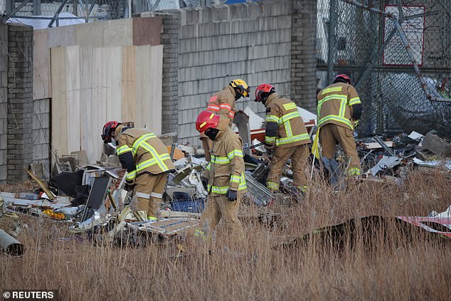
<instances>
[{"instance_id":1,"label":"chain-link fence with metal poles at upper right","mask_svg":"<svg viewBox=\"0 0 451 301\"><path fill-rule=\"evenodd\" d=\"M437 130L451 137L450 4L319 0L320 85L351 76L364 104L360 135Z\"/></svg>"}]
</instances>

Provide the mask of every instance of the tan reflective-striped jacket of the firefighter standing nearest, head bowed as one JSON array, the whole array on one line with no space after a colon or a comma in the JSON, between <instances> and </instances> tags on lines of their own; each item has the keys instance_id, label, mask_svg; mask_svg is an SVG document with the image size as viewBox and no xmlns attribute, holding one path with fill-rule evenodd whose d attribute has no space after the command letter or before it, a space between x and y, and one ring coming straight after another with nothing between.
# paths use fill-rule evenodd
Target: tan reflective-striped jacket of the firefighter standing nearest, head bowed
<instances>
[{"instance_id":1,"label":"tan reflective-striped jacket of the firefighter standing nearest, head bowed","mask_svg":"<svg viewBox=\"0 0 451 301\"><path fill-rule=\"evenodd\" d=\"M208 163L208 193L213 195L227 194L227 190L246 191L243 160L243 142L238 134L226 127L213 141L211 162Z\"/></svg>"}]
</instances>

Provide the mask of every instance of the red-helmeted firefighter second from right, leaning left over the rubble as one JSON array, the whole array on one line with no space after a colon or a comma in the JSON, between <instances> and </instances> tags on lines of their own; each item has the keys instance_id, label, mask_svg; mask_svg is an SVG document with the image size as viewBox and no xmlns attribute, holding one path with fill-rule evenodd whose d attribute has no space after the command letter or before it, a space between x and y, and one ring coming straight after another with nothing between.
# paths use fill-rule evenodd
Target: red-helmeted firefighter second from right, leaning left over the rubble
<instances>
[{"instance_id":1,"label":"red-helmeted firefighter second from right, leaning left over the rubble","mask_svg":"<svg viewBox=\"0 0 451 301\"><path fill-rule=\"evenodd\" d=\"M310 137L295 102L280 97L272 85L262 84L255 89L255 101L266 107L265 148L272 154L267 188L279 191L282 169L292 159L295 194L307 189L305 164L309 157Z\"/></svg>"}]
</instances>

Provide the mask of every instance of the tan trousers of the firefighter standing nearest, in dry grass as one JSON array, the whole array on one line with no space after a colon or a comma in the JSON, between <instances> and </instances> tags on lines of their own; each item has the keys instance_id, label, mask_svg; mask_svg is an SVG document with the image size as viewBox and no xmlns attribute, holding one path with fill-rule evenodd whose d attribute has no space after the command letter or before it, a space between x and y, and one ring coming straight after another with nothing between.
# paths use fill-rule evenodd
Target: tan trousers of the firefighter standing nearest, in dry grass
<instances>
[{"instance_id":1,"label":"tan trousers of the firefighter standing nearest, in dry grass","mask_svg":"<svg viewBox=\"0 0 451 301\"><path fill-rule=\"evenodd\" d=\"M223 221L226 230L233 236L242 237L243 227L238 220L238 208L240 208L242 194L238 194L236 201L228 201L226 194L208 194L207 203L201 216L201 228L206 233L214 231L219 221Z\"/></svg>"}]
</instances>

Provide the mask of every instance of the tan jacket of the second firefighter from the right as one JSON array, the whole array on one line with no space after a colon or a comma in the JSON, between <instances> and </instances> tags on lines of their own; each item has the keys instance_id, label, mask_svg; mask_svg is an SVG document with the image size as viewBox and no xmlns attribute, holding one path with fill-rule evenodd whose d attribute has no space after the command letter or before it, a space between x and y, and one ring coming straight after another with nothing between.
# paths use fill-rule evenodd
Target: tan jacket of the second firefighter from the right
<instances>
[{"instance_id":1,"label":"tan jacket of the second firefighter from the right","mask_svg":"<svg viewBox=\"0 0 451 301\"><path fill-rule=\"evenodd\" d=\"M310 143L310 137L295 102L272 93L265 102L265 144L286 148ZM272 123L272 124L271 124ZM277 131L272 130L277 124ZM274 126L273 126L274 125Z\"/></svg>"}]
</instances>

